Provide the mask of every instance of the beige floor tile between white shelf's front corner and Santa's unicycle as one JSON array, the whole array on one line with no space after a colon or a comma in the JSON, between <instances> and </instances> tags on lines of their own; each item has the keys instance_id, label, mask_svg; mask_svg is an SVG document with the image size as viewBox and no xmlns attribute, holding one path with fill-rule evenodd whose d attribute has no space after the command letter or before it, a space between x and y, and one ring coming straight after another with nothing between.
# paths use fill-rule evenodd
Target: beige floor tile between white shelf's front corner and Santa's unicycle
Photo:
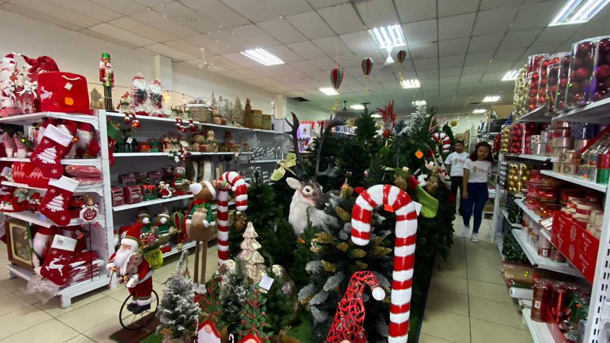
<instances>
[{"instance_id":1,"label":"beige floor tile between white shelf's front corner and Santa's unicycle","mask_svg":"<svg viewBox=\"0 0 610 343\"><path fill-rule=\"evenodd\" d=\"M120 308L121 301L104 297L62 314L57 319L74 328L74 330L84 333L110 319L114 319L117 325L120 325L118 322L118 311Z\"/></svg>"}]
</instances>

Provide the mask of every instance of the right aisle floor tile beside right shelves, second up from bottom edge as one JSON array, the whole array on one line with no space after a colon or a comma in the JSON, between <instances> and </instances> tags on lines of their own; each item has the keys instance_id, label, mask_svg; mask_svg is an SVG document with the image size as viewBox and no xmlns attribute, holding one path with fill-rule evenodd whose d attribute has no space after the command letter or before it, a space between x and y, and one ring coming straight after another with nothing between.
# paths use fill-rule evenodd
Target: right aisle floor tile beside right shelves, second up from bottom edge
<instances>
[{"instance_id":1,"label":"right aisle floor tile beside right shelves, second up from bottom edge","mask_svg":"<svg viewBox=\"0 0 610 343\"><path fill-rule=\"evenodd\" d=\"M521 310L518 306L501 301L470 296L470 317L507 325L522 330L527 327L522 323Z\"/></svg>"}]
</instances>

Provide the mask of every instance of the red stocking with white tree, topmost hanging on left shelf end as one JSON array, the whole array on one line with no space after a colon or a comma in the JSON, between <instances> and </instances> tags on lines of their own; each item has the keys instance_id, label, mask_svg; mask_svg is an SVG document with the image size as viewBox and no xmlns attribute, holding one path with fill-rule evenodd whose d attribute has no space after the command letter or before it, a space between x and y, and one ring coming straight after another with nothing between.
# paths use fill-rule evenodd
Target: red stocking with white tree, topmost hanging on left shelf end
<instances>
[{"instance_id":1,"label":"red stocking with white tree, topmost hanging on left shelf end","mask_svg":"<svg viewBox=\"0 0 610 343\"><path fill-rule=\"evenodd\" d=\"M32 164L42 171L45 178L56 179L63 175L60 160L68 153L68 145L72 139L72 135L66 134L56 126L49 124L46 127L45 135L30 156Z\"/></svg>"}]
</instances>

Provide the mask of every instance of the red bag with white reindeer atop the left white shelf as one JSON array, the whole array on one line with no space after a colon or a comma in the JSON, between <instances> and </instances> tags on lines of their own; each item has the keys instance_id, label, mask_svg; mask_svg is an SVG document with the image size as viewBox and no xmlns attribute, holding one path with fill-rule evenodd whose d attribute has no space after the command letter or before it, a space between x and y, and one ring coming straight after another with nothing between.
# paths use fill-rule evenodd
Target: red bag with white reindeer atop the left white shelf
<instances>
[{"instance_id":1,"label":"red bag with white reindeer atop the left white shelf","mask_svg":"<svg viewBox=\"0 0 610 343\"><path fill-rule=\"evenodd\" d=\"M38 74L38 98L42 112L90 114L87 79L63 71Z\"/></svg>"}]
</instances>

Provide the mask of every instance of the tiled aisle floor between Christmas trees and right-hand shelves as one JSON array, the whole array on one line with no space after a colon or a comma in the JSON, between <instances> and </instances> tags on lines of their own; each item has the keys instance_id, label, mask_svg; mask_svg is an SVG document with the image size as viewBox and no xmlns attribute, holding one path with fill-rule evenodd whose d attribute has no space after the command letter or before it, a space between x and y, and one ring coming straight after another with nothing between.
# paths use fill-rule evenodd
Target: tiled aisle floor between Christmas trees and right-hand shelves
<instances>
[{"instance_id":1,"label":"tiled aisle floor between Christmas trees and right-hand shelves","mask_svg":"<svg viewBox=\"0 0 610 343\"><path fill-rule=\"evenodd\" d=\"M451 255L437 258L419 342L532 343L500 275L500 251L489 242L491 220L483 220L478 243L461 236L461 220L454 222Z\"/></svg>"}]
</instances>

